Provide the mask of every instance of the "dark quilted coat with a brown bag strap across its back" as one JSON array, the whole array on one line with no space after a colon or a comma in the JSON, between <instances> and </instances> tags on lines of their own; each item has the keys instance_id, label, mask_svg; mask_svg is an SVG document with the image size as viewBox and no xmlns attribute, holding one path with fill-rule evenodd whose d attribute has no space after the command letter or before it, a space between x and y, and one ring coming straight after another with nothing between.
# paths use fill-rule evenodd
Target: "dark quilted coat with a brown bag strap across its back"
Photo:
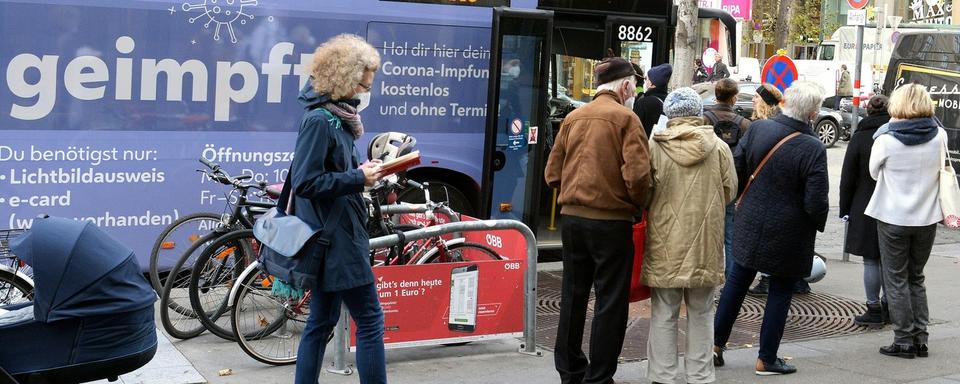
<instances>
[{"instance_id":1,"label":"dark quilted coat with a brown bag strap across its back","mask_svg":"<svg viewBox=\"0 0 960 384\"><path fill-rule=\"evenodd\" d=\"M810 275L830 205L823 143L809 124L778 115L751 124L733 157L742 191L770 149L796 131L802 135L780 147L744 195L734 218L733 256L760 272L801 278Z\"/></svg>"}]
</instances>

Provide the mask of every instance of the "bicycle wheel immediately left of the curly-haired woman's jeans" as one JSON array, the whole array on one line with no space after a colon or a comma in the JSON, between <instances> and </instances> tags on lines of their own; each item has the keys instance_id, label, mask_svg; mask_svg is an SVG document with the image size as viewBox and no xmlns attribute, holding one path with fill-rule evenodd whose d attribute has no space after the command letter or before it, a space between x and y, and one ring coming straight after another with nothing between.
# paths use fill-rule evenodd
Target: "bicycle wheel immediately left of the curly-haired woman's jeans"
<instances>
[{"instance_id":1,"label":"bicycle wheel immediately left of the curly-haired woman's jeans","mask_svg":"<svg viewBox=\"0 0 960 384\"><path fill-rule=\"evenodd\" d=\"M244 273L230 315L240 349L265 364L295 363L310 317L310 294L298 300L274 296L272 276L258 268L248 268Z\"/></svg>"}]
</instances>

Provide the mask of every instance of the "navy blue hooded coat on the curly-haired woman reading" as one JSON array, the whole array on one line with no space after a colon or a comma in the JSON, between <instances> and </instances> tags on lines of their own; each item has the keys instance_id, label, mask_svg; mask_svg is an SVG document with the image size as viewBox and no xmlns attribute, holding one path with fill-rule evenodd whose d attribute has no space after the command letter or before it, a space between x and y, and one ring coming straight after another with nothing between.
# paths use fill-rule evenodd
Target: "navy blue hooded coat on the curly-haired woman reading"
<instances>
[{"instance_id":1,"label":"navy blue hooded coat on the curly-haired woman reading","mask_svg":"<svg viewBox=\"0 0 960 384\"><path fill-rule=\"evenodd\" d=\"M289 178L294 212L316 228L336 226L326 250L315 247L313 255L305 256L322 259L317 274L321 291L372 284L367 209L360 195L365 179L358 169L353 133L338 117L319 108L330 98L317 95L310 83L300 91L299 100L307 111L300 122ZM330 218L336 206L342 207L340 217Z\"/></svg>"}]
</instances>

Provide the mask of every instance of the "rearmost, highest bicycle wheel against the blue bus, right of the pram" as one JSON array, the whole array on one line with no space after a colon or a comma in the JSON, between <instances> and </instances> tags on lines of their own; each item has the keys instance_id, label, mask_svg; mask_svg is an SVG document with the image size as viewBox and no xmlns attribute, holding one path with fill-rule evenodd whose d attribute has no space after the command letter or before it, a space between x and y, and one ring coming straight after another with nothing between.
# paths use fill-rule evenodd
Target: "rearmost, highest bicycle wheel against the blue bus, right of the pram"
<instances>
[{"instance_id":1,"label":"rearmost, highest bicycle wheel against the blue bus, right of the pram","mask_svg":"<svg viewBox=\"0 0 960 384\"><path fill-rule=\"evenodd\" d=\"M176 264L194 242L220 226L220 215L200 212L181 217L160 232L150 250L150 284L160 294L166 283L168 268Z\"/></svg>"}]
</instances>

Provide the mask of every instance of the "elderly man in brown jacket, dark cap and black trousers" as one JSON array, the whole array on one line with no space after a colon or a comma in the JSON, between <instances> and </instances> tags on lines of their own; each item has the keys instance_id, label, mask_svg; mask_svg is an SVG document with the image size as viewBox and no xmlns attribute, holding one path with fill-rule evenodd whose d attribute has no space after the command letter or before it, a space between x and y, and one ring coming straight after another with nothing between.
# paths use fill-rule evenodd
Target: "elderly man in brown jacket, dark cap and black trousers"
<instances>
[{"instance_id":1,"label":"elderly man in brown jacket, dark cap and black trousers","mask_svg":"<svg viewBox=\"0 0 960 384\"><path fill-rule=\"evenodd\" d=\"M563 121L545 171L560 188L563 289L555 363L561 382L606 384L627 327L632 225L650 187L647 137L631 110L636 79L621 58L596 66L597 95ZM583 326L596 288L590 358Z\"/></svg>"}]
</instances>

